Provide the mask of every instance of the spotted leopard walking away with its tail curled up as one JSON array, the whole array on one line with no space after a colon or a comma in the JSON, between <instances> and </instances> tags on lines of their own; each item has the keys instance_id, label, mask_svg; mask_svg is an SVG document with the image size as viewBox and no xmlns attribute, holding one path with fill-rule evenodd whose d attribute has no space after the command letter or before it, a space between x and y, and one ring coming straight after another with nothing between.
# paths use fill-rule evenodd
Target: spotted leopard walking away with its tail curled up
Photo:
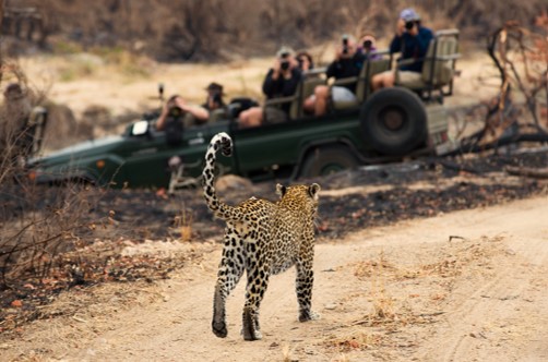
<instances>
[{"instance_id":1,"label":"spotted leopard walking away with its tail curled up","mask_svg":"<svg viewBox=\"0 0 548 362\"><path fill-rule=\"evenodd\" d=\"M246 298L242 312L245 340L262 339L259 310L272 275L296 267L296 293L299 322L318 319L312 311L315 218L319 205L318 183L276 184L277 201L250 197L236 206L221 201L215 191L215 165L218 150L231 156L233 141L215 134L205 154L202 172L203 194L214 217L225 221L223 252L213 297L213 334L225 338L226 300L246 272Z\"/></svg>"}]
</instances>

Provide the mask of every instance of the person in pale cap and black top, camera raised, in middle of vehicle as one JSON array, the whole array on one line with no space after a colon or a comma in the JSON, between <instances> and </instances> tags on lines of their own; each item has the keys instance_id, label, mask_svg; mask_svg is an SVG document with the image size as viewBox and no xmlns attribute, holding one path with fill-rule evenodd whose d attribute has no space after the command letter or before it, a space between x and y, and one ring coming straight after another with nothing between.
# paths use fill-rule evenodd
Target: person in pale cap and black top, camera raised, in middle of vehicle
<instances>
[{"instance_id":1,"label":"person in pale cap and black top, camera raised, in middle of vehicle","mask_svg":"<svg viewBox=\"0 0 548 362\"><path fill-rule=\"evenodd\" d=\"M288 47L282 47L276 52L273 67L266 73L263 82L263 94L266 99L289 97L295 94L297 86L302 80L302 72L295 59L295 51ZM257 126L266 123L279 123L288 119L290 104L282 104L279 107L252 107L242 111L239 123L243 128Z\"/></svg>"}]
</instances>

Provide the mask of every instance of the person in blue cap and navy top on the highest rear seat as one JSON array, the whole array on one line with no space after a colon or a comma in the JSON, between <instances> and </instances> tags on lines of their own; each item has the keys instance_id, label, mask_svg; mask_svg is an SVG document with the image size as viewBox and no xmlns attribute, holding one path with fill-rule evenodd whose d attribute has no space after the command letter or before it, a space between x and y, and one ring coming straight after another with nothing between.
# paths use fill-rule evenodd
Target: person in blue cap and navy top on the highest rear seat
<instances>
[{"instance_id":1,"label":"person in blue cap and navy top on the highest rear seat","mask_svg":"<svg viewBox=\"0 0 548 362\"><path fill-rule=\"evenodd\" d=\"M390 52L401 52L401 60L415 59L415 62L398 67L398 76L406 83L415 77L420 77L422 72L422 59L428 46L433 39L433 32L421 25L419 14L412 8L404 9L400 13L396 25L396 34L390 44ZM394 71L386 71L373 76L371 86L373 90L393 86L395 82Z\"/></svg>"}]
</instances>

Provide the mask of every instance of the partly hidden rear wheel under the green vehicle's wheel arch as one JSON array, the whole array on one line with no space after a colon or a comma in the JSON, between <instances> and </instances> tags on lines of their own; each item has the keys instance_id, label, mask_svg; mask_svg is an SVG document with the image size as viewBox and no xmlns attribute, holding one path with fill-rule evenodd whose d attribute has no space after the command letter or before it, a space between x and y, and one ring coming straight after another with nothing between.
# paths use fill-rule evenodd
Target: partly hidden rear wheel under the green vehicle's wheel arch
<instances>
[{"instance_id":1,"label":"partly hidden rear wheel under the green vehicle's wheel arch","mask_svg":"<svg viewBox=\"0 0 548 362\"><path fill-rule=\"evenodd\" d=\"M305 158L299 174L301 178L325 176L358 165L358 159L346 146L317 147Z\"/></svg>"}]
</instances>

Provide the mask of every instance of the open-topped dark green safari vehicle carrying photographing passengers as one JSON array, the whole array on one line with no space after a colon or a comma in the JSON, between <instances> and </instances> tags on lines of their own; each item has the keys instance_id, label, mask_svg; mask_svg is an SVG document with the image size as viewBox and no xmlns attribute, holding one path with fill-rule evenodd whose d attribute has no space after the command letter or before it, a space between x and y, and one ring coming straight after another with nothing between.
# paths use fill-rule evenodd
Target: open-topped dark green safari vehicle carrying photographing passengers
<instances>
[{"instance_id":1,"label":"open-topped dark green safari vehicle carrying photographing passengers","mask_svg":"<svg viewBox=\"0 0 548 362\"><path fill-rule=\"evenodd\" d=\"M332 104L324 117L307 116L302 110L302 101L314 86L325 83L321 74L309 74L294 96L266 104L290 102L288 122L240 129L236 117L242 108L240 99L235 99L230 116L189 126L174 142L166 132L155 130L155 116L145 117L122 135L33 159L33 176L38 182L78 179L172 191L199 182L207 144L218 132L227 132L234 141L234 155L219 157L218 172L253 181L315 177L360 165L442 154L450 150L443 98L453 93L457 44L457 31L438 32L424 59L420 82L398 83L374 93L371 76L391 69L393 61L388 53L366 61L359 76L337 82L356 82L358 101Z\"/></svg>"}]
</instances>

